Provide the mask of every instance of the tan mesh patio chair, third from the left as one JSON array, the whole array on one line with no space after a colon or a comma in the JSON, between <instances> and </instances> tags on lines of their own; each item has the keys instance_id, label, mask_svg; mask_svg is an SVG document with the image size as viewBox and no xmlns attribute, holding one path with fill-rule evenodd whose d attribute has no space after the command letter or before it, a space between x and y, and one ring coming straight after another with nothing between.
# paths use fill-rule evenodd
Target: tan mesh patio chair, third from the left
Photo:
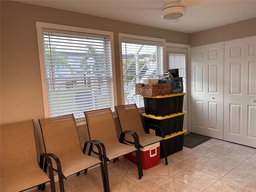
<instances>
[{"instance_id":1,"label":"tan mesh patio chair, third from the left","mask_svg":"<svg viewBox=\"0 0 256 192\"><path fill-rule=\"evenodd\" d=\"M110 162L110 160L114 160L115 162L115 160L118 160L120 156L130 152L136 152L138 177L141 179L143 176L143 171L137 134L135 132L125 131L121 133L120 139L118 140L116 127L110 108L85 111L84 114L86 116L90 140L95 142L99 141L102 147L102 153L106 154L106 158L104 158L105 172L108 172L107 161ZM123 144L125 134L132 135L135 147ZM98 154L96 148L91 148L90 152Z\"/></svg>"}]
</instances>

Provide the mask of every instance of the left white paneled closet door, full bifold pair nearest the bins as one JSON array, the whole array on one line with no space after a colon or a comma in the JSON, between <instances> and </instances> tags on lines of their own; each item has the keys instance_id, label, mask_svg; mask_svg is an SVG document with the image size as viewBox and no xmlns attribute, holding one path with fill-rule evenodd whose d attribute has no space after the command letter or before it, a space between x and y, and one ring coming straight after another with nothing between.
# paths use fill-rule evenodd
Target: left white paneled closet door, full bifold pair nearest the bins
<instances>
[{"instance_id":1,"label":"left white paneled closet door, full bifold pair nearest the bins","mask_svg":"<svg viewBox=\"0 0 256 192\"><path fill-rule=\"evenodd\" d=\"M223 139L224 42L191 48L191 131Z\"/></svg>"}]
</instances>

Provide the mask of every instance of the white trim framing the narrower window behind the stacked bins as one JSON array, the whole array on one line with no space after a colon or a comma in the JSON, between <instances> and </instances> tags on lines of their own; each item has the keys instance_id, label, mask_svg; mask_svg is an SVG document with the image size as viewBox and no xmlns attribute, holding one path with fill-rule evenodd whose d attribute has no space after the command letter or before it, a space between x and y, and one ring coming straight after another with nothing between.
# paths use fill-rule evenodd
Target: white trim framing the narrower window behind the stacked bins
<instances>
[{"instance_id":1,"label":"white trim framing the narrower window behind the stacked bins","mask_svg":"<svg viewBox=\"0 0 256 192\"><path fill-rule=\"evenodd\" d=\"M123 76L123 67L122 67L122 38L130 38L134 40L145 40L145 41L155 41L160 42L163 44L163 61L164 61L164 69L166 69L166 42L165 39L161 38L153 38L153 37L146 37L146 36L139 36L139 35L132 35L132 34L124 34L118 33L118 41L119 41L119 54L120 54L120 77L121 77L121 96L122 96L122 105L124 105L124 79Z\"/></svg>"}]
</instances>

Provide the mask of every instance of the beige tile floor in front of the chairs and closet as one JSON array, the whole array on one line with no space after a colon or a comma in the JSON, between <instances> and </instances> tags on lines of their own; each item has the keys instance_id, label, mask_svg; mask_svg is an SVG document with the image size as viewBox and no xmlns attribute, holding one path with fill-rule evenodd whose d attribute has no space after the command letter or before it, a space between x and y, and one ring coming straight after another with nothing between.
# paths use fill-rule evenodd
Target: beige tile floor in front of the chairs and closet
<instances>
[{"instance_id":1,"label":"beige tile floor in front of the chairs and closet","mask_svg":"<svg viewBox=\"0 0 256 192\"><path fill-rule=\"evenodd\" d=\"M143 174L139 180L137 166L126 158L108 163L111 192L255 192L256 148L210 139L168 156L168 166L160 159ZM100 168L67 178L64 185L65 192L102 192Z\"/></svg>"}]
</instances>

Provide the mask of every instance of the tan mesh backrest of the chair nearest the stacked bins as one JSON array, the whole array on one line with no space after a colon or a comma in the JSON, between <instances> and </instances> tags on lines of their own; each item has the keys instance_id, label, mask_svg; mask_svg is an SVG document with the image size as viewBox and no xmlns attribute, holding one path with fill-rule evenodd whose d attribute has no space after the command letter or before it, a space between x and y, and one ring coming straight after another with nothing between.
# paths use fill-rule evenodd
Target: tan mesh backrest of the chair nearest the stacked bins
<instances>
[{"instance_id":1,"label":"tan mesh backrest of the chair nearest the stacked bins","mask_svg":"<svg viewBox=\"0 0 256 192\"><path fill-rule=\"evenodd\" d=\"M122 131L135 131L138 136L145 134L136 104L115 106Z\"/></svg>"}]
</instances>

